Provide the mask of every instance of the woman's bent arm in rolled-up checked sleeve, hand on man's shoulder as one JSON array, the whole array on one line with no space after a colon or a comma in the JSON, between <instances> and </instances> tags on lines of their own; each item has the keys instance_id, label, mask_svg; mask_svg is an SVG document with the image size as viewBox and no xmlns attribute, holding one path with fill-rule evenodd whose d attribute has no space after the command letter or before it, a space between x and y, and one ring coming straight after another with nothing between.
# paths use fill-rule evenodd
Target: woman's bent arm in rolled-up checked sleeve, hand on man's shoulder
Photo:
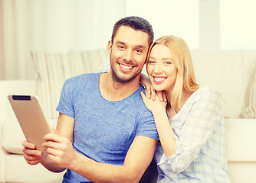
<instances>
[{"instance_id":1,"label":"woman's bent arm in rolled-up checked sleeve, hand on man's shoulder","mask_svg":"<svg viewBox=\"0 0 256 183\"><path fill-rule=\"evenodd\" d=\"M178 122L183 124L179 136L175 139L175 133L166 117L166 105L161 106L161 102L150 100L142 94L146 107L154 115L159 139L166 155L161 162L168 163L175 173L185 170L199 156L202 146L223 117L218 92L208 90L199 95L200 98L194 101L192 108L185 111L189 116L185 121Z\"/></svg>"}]
</instances>

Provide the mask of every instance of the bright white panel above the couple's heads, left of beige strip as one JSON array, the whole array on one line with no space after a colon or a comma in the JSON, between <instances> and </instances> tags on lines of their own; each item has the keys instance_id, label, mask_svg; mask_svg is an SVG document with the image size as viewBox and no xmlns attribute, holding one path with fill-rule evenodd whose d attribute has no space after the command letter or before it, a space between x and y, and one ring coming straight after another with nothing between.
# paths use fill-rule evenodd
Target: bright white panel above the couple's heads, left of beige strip
<instances>
[{"instance_id":1,"label":"bright white panel above the couple's heads, left of beige strip","mask_svg":"<svg viewBox=\"0 0 256 183\"><path fill-rule=\"evenodd\" d=\"M175 35L191 49L199 47L199 0L126 0L126 15L146 18L153 26L155 40Z\"/></svg>"}]
</instances>

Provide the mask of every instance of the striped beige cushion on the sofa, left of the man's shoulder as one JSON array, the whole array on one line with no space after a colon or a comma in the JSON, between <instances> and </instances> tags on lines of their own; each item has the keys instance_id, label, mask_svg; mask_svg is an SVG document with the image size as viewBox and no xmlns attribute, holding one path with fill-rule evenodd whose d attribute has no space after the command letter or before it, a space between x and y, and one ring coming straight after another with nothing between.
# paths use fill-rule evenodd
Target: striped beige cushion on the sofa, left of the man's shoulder
<instances>
[{"instance_id":1,"label":"striped beige cushion on the sofa, left of the man's shoulder","mask_svg":"<svg viewBox=\"0 0 256 183\"><path fill-rule=\"evenodd\" d=\"M68 53L31 52L35 71L38 73L38 97L48 118L57 118L55 111L61 88L66 79L83 73L94 72L108 63L107 49L70 50Z\"/></svg>"}]
</instances>

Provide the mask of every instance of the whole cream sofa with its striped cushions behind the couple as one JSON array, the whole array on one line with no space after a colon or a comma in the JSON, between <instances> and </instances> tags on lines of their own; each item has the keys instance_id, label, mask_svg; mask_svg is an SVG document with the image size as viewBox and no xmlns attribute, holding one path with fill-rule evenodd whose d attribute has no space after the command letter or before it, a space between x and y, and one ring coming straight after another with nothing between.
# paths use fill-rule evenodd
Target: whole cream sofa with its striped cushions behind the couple
<instances>
[{"instance_id":1,"label":"whole cream sofa with its striped cushions behind the couple","mask_svg":"<svg viewBox=\"0 0 256 183\"><path fill-rule=\"evenodd\" d=\"M228 169L233 183L256 182L256 50L192 50L195 77L200 85L213 85L223 98ZM64 80L84 72L109 69L107 50L70 50L68 53L31 53L34 80L0 81L0 182L61 182L62 173L42 165L28 165L22 155L25 140L8 102L8 95L37 95L51 127ZM146 73L146 69L143 69ZM154 170L152 170L154 169ZM146 172L156 174L156 165ZM146 174L141 182L156 182Z\"/></svg>"}]
</instances>

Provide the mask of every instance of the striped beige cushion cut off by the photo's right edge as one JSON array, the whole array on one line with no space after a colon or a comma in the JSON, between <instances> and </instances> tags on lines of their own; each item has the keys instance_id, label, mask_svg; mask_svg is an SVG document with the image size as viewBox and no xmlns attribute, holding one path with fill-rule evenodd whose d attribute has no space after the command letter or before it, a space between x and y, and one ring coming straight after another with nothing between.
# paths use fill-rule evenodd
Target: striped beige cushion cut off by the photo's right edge
<instances>
[{"instance_id":1,"label":"striped beige cushion cut off by the photo's right edge","mask_svg":"<svg viewBox=\"0 0 256 183\"><path fill-rule=\"evenodd\" d=\"M256 118L256 59L251 69L248 85L245 91L244 106L240 114L241 118Z\"/></svg>"}]
</instances>

